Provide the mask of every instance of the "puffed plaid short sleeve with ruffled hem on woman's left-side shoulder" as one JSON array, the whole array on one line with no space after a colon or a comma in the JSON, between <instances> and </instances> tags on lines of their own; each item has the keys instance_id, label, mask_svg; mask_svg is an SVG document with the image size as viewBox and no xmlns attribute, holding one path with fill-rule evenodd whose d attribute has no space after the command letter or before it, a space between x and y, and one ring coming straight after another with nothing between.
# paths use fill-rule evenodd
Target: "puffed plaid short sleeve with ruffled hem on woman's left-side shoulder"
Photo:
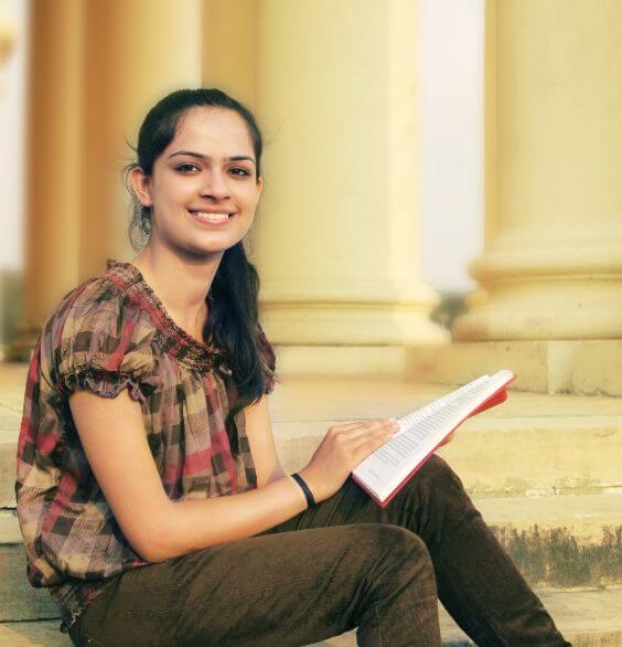
<instances>
[{"instance_id":1,"label":"puffed plaid short sleeve with ruffled hem on woman's left-side shoulder","mask_svg":"<svg viewBox=\"0 0 622 647\"><path fill-rule=\"evenodd\" d=\"M154 328L119 289L95 282L67 309L51 333L61 392L88 390L116 397L128 389L144 401L153 390Z\"/></svg>"}]
</instances>

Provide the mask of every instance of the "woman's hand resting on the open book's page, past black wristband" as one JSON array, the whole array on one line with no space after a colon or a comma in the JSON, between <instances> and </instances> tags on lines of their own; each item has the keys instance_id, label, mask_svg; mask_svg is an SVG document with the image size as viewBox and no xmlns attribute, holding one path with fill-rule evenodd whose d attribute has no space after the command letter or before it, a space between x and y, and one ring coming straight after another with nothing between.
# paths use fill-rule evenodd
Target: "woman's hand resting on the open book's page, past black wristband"
<instances>
[{"instance_id":1,"label":"woman's hand resting on the open book's page, past black wristband","mask_svg":"<svg viewBox=\"0 0 622 647\"><path fill-rule=\"evenodd\" d=\"M317 502L332 497L352 470L399 429L395 418L334 425L300 470Z\"/></svg>"}]
</instances>

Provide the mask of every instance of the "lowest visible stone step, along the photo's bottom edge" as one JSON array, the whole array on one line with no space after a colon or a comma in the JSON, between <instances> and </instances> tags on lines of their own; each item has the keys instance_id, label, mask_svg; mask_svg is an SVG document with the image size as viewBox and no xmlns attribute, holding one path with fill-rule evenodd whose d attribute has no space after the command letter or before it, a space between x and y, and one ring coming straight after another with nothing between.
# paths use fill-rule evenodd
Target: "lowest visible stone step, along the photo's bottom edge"
<instances>
[{"instance_id":1,"label":"lowest visible stone step, along the photo's bottom edge","mask_svg":"<svg viewBox=\"0 0 622 647\"><path fill-rule=\"evenodd\" d=\"M545 606L566 639L575 647L622 646L622 590L538 591ZM439 605L443 646L471 646ZM68 647L68 636L58 630L60 621L0 623L0 647ZM314 643L312 647L354 647L356 630Z\"/></svg>"}]
</instances>

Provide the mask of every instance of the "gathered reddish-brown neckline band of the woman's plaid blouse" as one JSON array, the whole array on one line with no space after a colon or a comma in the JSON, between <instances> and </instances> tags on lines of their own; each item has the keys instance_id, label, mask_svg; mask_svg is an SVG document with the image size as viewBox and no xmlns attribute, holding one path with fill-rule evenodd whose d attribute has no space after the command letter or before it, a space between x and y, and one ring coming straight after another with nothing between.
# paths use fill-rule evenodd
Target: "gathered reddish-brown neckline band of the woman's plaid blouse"
<instances>
[{"instance_id":1,"label":"gathered reddish-brown neckline band of the woman's plaid blouse","mask_svg":"<svg viewBox=\"0 0 622 647\"><path fill-rule=\"evenodd\" d=\"M108 258L104 278L121 287L147 310L164 340L162 350L197 369L223 361L223 352L218 348L195 339L175 322L136 265Z\"/></svg>"}]
</instances>

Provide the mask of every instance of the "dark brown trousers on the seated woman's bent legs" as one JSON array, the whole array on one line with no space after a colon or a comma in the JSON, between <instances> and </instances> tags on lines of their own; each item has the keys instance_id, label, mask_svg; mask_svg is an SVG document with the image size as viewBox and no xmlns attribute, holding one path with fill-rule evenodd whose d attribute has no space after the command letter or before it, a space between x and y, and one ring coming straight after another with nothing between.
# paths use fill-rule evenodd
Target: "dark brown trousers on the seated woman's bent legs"
<instances>
[{"instance_id":1,"label":"dark brown trousers on the seated woman's bent legs","mask_svg":"<svg viewBox=\"0 0 622 647\"><path fill-rule=\"evenodd\" d=\"M267 531L111 579L75 645L303 646L357 627L374 647L441 644L440 598L483 646L570 645L432 456L385 508L348 478Z\"/></svg>"}]
</instances>

